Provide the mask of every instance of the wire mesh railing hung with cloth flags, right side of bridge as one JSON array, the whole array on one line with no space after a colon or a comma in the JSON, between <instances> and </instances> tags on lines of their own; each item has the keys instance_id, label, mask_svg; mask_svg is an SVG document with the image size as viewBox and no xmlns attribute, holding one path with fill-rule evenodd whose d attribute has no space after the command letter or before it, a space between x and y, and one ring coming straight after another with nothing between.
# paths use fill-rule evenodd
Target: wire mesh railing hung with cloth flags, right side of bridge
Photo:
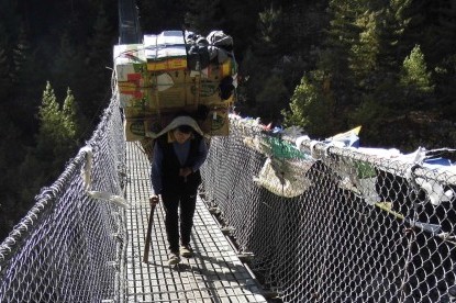
<instances>
[{"instance_id":1,"label":"wire mesh railing hung with cloth flags, right side of bridge","mask_svg":"<svg viewBox=\"0 0 456 303\"><path fill-rule=\"evenodd\" d=\"M293 138L294 139L294 138ZM312 157L312 156L313 157ZM456 175L233 122L205 201L283 302L451 302Z\"/></svg>"}]
</instances>

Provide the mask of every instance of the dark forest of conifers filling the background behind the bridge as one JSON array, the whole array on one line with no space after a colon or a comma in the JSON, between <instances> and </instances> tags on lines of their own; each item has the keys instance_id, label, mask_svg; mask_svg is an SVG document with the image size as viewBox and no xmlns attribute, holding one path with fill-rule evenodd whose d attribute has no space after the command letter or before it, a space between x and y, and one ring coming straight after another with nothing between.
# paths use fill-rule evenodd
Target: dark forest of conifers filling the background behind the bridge
<instances>
[{"instance_id":1,"label":"dark forest of conifers filling the background behind the bridge","mask_svg":"<svg viewBox=\"0 0 456 303\"><path fill-rule=\"evenodd\" d=\"M235 111L315 139L455 147L455 0L137 0L144 34L222 30ZM112 0L0 0L0 242L90 137L111 98Z\"/></svg>"}]
</instances>

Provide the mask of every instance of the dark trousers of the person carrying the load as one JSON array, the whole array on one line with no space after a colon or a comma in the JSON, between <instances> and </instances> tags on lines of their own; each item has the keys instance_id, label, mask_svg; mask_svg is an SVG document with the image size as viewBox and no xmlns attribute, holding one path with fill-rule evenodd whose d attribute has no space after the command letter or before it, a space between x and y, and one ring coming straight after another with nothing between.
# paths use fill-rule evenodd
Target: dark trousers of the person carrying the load
<instances>
[{"instance_id":1,"label":"dark trousers of the person carrying the load","mask_svg":"<svg viewBox=\"0 0 456 303\"><path fill-rule=\"evenodd\" d=\"M193 214L197 205L197 194L162 193L163 205L165 206L165 227L168 237L169 250L179 252L179 229L180 244L190 244L191 228L193 227ZM179 213L180 206L180 213ZM179 224L180 217L180 224ZM180 228L179 228L180 227Z\"/></svg>"}]
</instances>

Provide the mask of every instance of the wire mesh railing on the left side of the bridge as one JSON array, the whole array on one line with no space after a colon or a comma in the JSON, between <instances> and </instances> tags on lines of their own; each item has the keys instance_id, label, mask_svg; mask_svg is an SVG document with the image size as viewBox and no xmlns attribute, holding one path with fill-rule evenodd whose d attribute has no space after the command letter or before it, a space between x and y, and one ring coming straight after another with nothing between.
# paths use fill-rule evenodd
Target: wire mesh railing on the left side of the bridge
<instances>
[{"instance_id":1,"label":"wire mesh railing on the left side of the bridge","mask_svg":"<svg viewBox=\"0 0 456 303\"><path fill-rule=\"evenodd\" d=\"M123 195L124 157L113 99L86 148L0 245L0 302L121 301L123 209L89 191Z\"/></svg>"}]
</instances>

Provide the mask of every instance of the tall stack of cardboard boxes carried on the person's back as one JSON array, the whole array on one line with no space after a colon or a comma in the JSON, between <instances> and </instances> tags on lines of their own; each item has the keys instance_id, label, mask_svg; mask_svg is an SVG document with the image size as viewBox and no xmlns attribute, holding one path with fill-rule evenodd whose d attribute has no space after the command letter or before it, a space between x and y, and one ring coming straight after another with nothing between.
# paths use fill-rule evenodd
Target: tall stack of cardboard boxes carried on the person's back
<instances>
[{"instance_id":1,"label":"tall stack of cardboard boxes carried on the person's back","mask_svg":"<svg viewBox=\"0 0 456 303\"><path fill-rule=\"evenodd\" d=\"M144 148L179 112L192 114L208 136L229 135L229 108L234 93L221 93L221 83L235 81L232 53L205 66L189 63L189 41L182 31L144 35L143 44L114 46L118 98L124 111L126 141ZM208 47L213 47L208 45Z\"/></svg>"}]
</instances>

